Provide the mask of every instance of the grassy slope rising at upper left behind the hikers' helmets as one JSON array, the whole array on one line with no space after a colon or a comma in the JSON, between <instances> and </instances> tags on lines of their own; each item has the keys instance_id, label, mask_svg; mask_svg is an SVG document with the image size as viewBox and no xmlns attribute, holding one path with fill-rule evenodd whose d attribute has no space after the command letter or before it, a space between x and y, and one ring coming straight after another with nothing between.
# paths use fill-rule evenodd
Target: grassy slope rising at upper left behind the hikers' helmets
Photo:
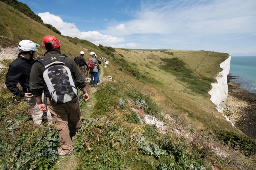
<instances>
[{"instance_id":1,"label":"grassy slope rising at upper left behind the hikers' helmets","mask_svg":"<svg viewBox=\"0 0 256 170\"><path fill-rule=\"evenodd\" d=\"M71 38L60 36L7 4L0 3L0 45L3 47L16 47L19 41L24 39L41 44L44 36L53 35L59 38L62 53L72 58L79 55L80 51L85 51L85 55L89 55L88 51L90 50L98 51L96 50L97 47L92 43L85 43L83 46L75 45L71 43ZM38 55L43 55L44 53L43 48L37 52Z\"/></svg>"}]
</instances>

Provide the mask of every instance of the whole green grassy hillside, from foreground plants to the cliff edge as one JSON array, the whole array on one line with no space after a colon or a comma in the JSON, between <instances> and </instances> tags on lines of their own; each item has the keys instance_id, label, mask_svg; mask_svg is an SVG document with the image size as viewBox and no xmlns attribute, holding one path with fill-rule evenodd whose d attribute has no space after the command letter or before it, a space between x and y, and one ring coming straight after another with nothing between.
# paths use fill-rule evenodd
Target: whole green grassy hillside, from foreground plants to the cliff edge
<instances>
[{"instance_id":1,"label":"whole green grassy hillside, from foreground plants to the cliff edge","mask_svg":"<svg viewBox=\"0 0 256 170\"><path fill-rule=\"evenodd\" d=\"M88 60L89 52L95 51L98 56L106 56L109 64L106 68L101 65L102 83L98 88L88 87L89 101L81 100L79 93L83 127L73 138L75 151L68 157L57 157L56 129L34 126L26 101L5 88L7 69L2 70L0 169L255 168L255 142L248 138L241 142L244 136L237 134L242 133L217 112L207 93L227 54L103 48L86 40L60 36L0 2L2 47L16 47L23 39L41 44L45 35L60 39L62 54L73 58L84 51ZM40 49L37 57L44 52ZM10 62L2 63L8 67ZM178 65L174 67L175 62ZM103 82L108 75L115 81ZM164 122L168 133L159 133L156 126L140 123L134 111L136 104L146 115ZM235 136L235 147L249 147L239 152L225 150L228 146L215 138L216 134L225 137L225 131L218 133L223 129L231 131L228 137ZM186 139L186 135L190 138ZM232 140L223 139L226 143ZM218 147L223 145L220 150L231 156L221 158L212 149L217 147L215 143Z\"/></svg>"}]
</instances>

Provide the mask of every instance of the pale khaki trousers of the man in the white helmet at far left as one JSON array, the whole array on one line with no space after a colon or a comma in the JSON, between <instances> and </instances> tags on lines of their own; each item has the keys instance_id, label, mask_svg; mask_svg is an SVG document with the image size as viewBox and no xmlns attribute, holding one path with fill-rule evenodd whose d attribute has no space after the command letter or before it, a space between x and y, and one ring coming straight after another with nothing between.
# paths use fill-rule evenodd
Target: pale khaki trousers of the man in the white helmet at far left
<instances>
[{"instance_id":1,"label":"pale khaki trousers of the man in the white helmet at far left","mask_svg":"<svg viewBox=\"0 0 256 170\"><path fill-rule=\"evenodd\" d=\"M47 115L47 122L49 124L52 124L52 115L49 109L47 109L47 112L43 112L41 110L39 110L38 105L36 103L35 97L27 97L26 98L27 102L30 104L30 106L32 107L32 118L35 124L40 125L42 123L43 118L46 118ZM42 101L44 104L46 104L46 96L44 95L44 93L42 94ZM47 106L47 104L46 104Z\"/></svg>"}]
</instances>

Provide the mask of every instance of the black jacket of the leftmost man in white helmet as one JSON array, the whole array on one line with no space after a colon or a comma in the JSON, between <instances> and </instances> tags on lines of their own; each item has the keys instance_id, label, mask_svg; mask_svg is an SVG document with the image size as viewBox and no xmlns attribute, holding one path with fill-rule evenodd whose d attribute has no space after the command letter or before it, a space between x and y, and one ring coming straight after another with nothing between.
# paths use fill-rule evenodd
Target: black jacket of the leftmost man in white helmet
<instances>
[{"instance_id":1,"label":"black jacket of the leftmost man in white helmet","mask_svg":"<svg viewBox=\"0 0 256 170\"><path fill-rule=\"evenodd\" d=\"M29 90L29 76L33 61L33 59L25 59L19 54L9 65L5 85L13 94L24 97L26 92L31 92ZM22 86L22 91L17 87L18 82Z\"/></svg>"}]
</instances>

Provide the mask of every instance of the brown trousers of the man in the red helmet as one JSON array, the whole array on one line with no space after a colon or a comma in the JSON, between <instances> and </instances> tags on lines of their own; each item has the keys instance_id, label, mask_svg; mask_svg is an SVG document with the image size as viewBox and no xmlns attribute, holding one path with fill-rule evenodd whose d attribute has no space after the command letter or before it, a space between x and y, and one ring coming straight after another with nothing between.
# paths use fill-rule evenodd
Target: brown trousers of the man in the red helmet
<instances>
[{"instance_id":1,"label":"brown trousers of the man in the red helmet","mask_svg":"<svg viewBox=\"0 0 256 170\"><path fill-rule=\"evenodd\" d=\"M60 147L64 152L70 153L74 149L71 136L82 126L78 97L63 104L51 102L47 97L47 104L59 131Z\"/></svg>"}]
</instances>

